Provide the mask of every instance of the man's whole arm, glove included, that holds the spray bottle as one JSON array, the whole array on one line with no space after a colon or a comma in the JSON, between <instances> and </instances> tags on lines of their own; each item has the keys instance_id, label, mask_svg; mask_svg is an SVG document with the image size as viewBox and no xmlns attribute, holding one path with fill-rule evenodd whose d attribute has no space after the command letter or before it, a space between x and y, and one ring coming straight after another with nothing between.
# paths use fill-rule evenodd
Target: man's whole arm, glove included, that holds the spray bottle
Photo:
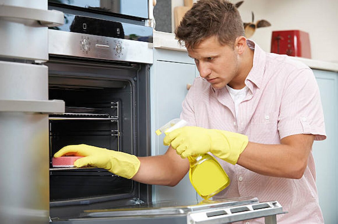
<instances>
[{"instance_id":1,"label":"man's whole arm, glove included, that holds the spray bottle","mask_svg":"<svg viewBox=\"0 0 338 224\"><path fill-rule=\"evenodd\" d=\"M303 176L313 141L314 135L296 134L283 138L281 144L258 144L239 133L200 127L176 129L164 138L182 158L210 151L228 163L285 178Z\"/></svg>"}]
</instances>

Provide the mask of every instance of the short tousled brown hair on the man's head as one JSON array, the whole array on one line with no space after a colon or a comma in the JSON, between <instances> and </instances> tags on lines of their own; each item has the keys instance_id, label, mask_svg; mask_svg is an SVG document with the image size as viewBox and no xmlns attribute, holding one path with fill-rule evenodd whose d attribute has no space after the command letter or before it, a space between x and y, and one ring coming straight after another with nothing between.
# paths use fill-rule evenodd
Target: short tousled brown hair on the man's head
<instances>
[{"instance_id":1,"label":"short tousled brown hair on the man's head","mask_svg":"<svg viewBox=\"0 0 338 224\"><path fill-rule=\"evenodd\" d=\"M236 6L226 0L197 1L185 14L175 34L180 45L190 48L211 36L233 47L236 38L245 35Z\"/></svg>"}]
</instances>

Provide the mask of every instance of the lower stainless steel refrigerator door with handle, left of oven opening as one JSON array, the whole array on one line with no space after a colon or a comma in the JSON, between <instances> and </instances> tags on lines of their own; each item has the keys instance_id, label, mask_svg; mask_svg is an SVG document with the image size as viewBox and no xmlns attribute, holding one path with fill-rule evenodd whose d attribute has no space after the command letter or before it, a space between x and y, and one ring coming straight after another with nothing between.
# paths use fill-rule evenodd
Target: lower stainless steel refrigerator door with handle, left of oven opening
<instances>
[{"instance_id":1,"label":"lower stainless steel refrigerator door with handle, left of oven opening","mask_svg":"<svg viewBox=\"0 0 338 224\"><path fill-rule=\"evenodd\" d=\"M0 61L0 223L49 221L48 67Z\"/></svg>"}]
</instances>

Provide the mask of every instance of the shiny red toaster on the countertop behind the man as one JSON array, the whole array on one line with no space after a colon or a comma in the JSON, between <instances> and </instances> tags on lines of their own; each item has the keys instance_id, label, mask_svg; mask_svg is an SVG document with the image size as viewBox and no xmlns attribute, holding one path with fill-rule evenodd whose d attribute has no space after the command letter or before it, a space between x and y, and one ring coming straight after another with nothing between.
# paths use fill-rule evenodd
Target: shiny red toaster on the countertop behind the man
<instances>
[{"instance_id":1,"label":"shiny red toaster on the countertop behind the man","mask_svg":"<svg viewBox=\"0 0 338 224\"><path fill-rule=\"evenodd\" d=\"M272 31L271 53L311 58L309 33L300 30Z\"/></svg>"}]
</instances>

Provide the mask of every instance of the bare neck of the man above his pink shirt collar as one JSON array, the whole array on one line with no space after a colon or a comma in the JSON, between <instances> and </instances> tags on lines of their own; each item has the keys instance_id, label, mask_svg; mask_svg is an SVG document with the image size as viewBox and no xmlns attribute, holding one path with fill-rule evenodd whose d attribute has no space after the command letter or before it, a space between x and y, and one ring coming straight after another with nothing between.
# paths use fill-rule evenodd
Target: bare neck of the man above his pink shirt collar
<instances>
[{"instance_id":1,"label":"bare neck of the man above his pink shirt collar","mask_svg":"<svg viewBox=\"0 0 338 224\"><path fill-rule=\"evenodd\" d=\"M245 45L245 51L238 61L238 71L236 79L232 80L228 86L233 89L242 89L245 86L245 79L251 71L254 61L254 51Z\"/></svg>"}]
</instances>

